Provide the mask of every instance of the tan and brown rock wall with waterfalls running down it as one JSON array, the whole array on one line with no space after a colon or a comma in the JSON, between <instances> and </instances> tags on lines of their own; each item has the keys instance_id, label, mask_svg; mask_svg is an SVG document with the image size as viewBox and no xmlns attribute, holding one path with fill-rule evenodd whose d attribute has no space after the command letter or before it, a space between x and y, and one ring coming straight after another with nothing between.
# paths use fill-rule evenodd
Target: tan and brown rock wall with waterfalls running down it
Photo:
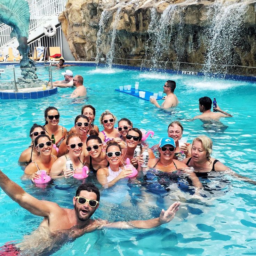
<instances>
[{"instance_id":1,"label":"tan and brown rock wall with waterfalls running down it","mask_svg":"<svg viewBox=\"0 0 256 256\"><path fill-rule=\"evenodd\" d=\"M69 0L59 21L78 61L106 57L116 25L116 58L255 66L255 1Z\"/></svg>"}]
</instances>

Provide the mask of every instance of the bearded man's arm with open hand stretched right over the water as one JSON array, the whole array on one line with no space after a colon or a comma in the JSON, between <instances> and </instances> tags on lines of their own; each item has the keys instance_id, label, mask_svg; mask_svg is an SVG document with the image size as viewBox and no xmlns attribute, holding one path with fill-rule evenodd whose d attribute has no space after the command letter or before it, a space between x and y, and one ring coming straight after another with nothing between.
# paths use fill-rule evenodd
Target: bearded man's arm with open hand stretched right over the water
<instances>
[{"instance_id":1,"label":"bearded man's arm with open hand stretched right over the water","mask_svg":"<svg viewBox=\"0 0 256 256\"><path fill-rule=\"evenodd\" d=\"M101 228L110 227L114 229L152 229L153 227L158 227L162 224L170 222L174 218L180 204L180 202L175 202L166 211L162 210L159 218L148 219L146 221L113 222L105 224L101 226Z\"/></svg>"}]
</instances>

